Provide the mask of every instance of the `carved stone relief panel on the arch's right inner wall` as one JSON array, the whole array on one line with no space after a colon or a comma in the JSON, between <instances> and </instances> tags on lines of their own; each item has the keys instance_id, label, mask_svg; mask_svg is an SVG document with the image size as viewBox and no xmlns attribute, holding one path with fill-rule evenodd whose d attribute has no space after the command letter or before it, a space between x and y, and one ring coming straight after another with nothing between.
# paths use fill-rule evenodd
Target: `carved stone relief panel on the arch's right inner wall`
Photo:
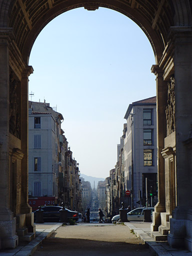
<instances>
[{"instance_id":1,"label":"carved stone relief panel on the arch's right inner wall","mask_svg":"<svg viewBox=\"0 0 192 256\"><path fill-rule=\"evenodd\" d=\"M167 83L167 106L165 109L166 114L166 135L170 135L175 131L175 92L174 92L174 77L170 77Z\"/></svg>"}]
</instances>

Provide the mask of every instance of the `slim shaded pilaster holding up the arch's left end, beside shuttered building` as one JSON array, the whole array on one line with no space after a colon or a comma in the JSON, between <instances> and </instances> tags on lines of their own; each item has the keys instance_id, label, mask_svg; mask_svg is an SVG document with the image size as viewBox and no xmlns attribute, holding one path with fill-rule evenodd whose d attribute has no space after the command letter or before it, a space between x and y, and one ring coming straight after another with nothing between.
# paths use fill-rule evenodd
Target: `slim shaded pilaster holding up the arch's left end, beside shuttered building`
<instances>
[{"instance_id":1,"label":"slim shaded pilaster holding up the arch's left end, beside shuttered building","mask_svg":"<svg viewBox=\"0 0 192 256\"><path fill-rule=\"evenodd\" d=\"M26 66L21 74L21 213L26 214L26 226L33 232L33 213L28 204L28 76L33 72L32 66Z\"/></svg>"}]
</instances>

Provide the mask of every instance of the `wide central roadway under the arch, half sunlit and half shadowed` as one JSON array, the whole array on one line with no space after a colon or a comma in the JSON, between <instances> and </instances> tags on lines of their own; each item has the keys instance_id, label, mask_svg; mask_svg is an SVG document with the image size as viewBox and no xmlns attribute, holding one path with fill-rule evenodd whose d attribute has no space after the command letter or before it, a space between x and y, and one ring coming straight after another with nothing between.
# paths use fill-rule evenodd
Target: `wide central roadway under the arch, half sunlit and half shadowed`
<instances>
[{"instance_id":1,"label":"wide central roadway under the arch, half sunlit and half shadowed","mask_svg":"<svg viewBox=\"0 0 192 256\"><path fill-rule=\"evenodd\" d=\"M147 256L149 249L125 225L61 226L34 256Z\"/></svg>"}]
</instances>

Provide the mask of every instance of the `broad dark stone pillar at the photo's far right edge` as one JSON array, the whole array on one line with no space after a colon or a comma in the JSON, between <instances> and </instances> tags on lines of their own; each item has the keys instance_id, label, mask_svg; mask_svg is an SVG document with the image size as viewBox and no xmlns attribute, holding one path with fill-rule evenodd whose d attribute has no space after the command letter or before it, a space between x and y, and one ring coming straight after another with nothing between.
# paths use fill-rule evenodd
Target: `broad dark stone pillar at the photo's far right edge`
<instances>
[{"instance_id":1,"label":"broad dark stone pillar at the photo's far right edge","mask_svg":"<svg viewBox=\"0 0 192 256\"><path fill-rule=\"evenodd\" d=\"M170 219L168 243L183 244L192 250L191 156L185 144L192 122L192 28L171 27L174 43L175 73L175 141L176 141L176 207Z\"/></svg>"}]
</instances>

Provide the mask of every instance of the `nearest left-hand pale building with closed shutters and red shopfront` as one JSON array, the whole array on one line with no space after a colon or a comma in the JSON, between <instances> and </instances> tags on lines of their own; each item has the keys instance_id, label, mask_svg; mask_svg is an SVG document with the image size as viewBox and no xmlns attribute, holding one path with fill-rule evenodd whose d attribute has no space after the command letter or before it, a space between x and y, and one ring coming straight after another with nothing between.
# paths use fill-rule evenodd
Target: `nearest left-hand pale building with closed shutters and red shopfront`
<instances>
[{"instance_id":1,"label":"nearest left-hand pale building with closed shutters and red shopfront","mask_svg":"<svg viewBox=\"0 0 192 256\"><path fill-rule=\"evenodd\" d=\"M28 196L34 210L58 201L59 133L62 115L48 103L31 102L28 118Z\"/></svg>"}]
</instances>

